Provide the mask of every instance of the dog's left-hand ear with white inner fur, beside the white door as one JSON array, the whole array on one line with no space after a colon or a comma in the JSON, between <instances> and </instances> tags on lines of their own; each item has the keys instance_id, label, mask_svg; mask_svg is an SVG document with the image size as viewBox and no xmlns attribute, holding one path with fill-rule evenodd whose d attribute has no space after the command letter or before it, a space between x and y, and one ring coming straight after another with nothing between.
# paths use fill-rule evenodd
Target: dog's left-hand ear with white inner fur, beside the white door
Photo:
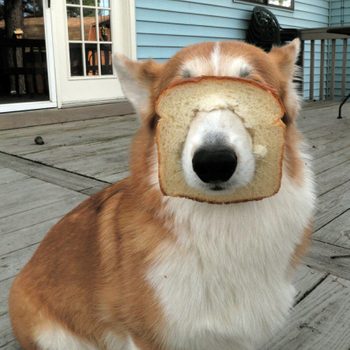
<instances>
[{"instance_id":1,"label":"dog's left-hand ear with white inner fur, beside the white door","mask_svg":"<svg viewBox=\"0 0 350 350\"><path fill-rule=\"evenodd\" d=\"M139 114L147 111L151 90L163 65L154 60L133 61L122 54L114 55L114 66L125 96Z\"/></svg>"}]
</instances>

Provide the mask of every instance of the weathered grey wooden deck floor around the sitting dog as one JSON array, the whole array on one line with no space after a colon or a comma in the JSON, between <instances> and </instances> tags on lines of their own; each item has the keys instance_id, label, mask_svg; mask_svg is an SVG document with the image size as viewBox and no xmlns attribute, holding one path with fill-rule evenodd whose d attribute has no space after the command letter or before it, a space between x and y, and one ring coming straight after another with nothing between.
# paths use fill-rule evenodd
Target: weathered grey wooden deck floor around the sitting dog
<instances>
[{"instance_id":1,"label":"weathered grey wooden deck floor around the sitting dog","mask_svg":"<svg viewBox=\"0 0 350 350\"><path fill-rule=\"evenodd\" d=\"M295 307L264 350L350 349L350 104L346 119L336 119L336 108L307 108L299 119L314 157L316 228L295 279ZM19 349L8 290L47 230L88 195L128 174L135 116L101 118L97 107L94 113L96 119L0 131L1 350ZM44 145L34 143L39 135Z\"/></svg>"}]
</instances>

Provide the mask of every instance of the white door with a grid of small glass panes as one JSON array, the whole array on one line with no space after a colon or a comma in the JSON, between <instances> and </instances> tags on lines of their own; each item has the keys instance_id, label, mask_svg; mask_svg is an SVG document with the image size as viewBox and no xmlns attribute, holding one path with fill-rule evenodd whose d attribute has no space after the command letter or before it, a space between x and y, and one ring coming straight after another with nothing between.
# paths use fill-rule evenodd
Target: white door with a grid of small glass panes
<instances>
[{"instance_id":1,"label":"white door with a grid of small glass panes","mask_svg":"<svg viewBox=\"0 0 350 350\"><path fill-rule=\"evenodd\" d=\"M123 98L112 52L134 57L134 8L129 0L51 1L59 107Z\"/></svg>"}]
</instances>

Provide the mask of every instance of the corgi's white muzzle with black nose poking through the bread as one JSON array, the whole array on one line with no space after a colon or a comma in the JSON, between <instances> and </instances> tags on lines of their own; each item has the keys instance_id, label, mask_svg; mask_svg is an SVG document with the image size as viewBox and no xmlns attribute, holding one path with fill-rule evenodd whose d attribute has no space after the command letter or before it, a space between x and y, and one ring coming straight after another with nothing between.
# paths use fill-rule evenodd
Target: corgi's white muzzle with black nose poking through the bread
<instances>
[{"instance_id":1,"label":"corgi's white muzzle with black nose poking through the bread","mask_svg":"<svg viewBox=\"0 0 350 350\"><path fill-rule=\"evenodd\" d=\"M200 191L233 191L254 175L252 140L232 111L198 112L192 120L182 152L187 184Z\"/></svg>"}]
</instances>

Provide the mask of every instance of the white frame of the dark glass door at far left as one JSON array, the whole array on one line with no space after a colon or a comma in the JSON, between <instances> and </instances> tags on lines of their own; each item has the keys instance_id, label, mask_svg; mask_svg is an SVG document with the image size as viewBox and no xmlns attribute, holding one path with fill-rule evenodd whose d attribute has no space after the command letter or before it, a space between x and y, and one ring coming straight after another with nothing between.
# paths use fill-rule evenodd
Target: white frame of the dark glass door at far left
<instances>
[{"instance_id":1,"label":"white frame of the dark glass door at far left","mask_svg":"<svg viewBox=\"0 0 350 350\"><path fill-rule=\"evenodd\" d=\"M27 111L27 110L57 107L55 61L54 61L53 36L52 36L52 19L51 19L51 9L49 8L48 3L49 3L49 0L43 0L49 100L0 104L0 113L21 112L21 111Z\"/></svg>"}]
</instances>

